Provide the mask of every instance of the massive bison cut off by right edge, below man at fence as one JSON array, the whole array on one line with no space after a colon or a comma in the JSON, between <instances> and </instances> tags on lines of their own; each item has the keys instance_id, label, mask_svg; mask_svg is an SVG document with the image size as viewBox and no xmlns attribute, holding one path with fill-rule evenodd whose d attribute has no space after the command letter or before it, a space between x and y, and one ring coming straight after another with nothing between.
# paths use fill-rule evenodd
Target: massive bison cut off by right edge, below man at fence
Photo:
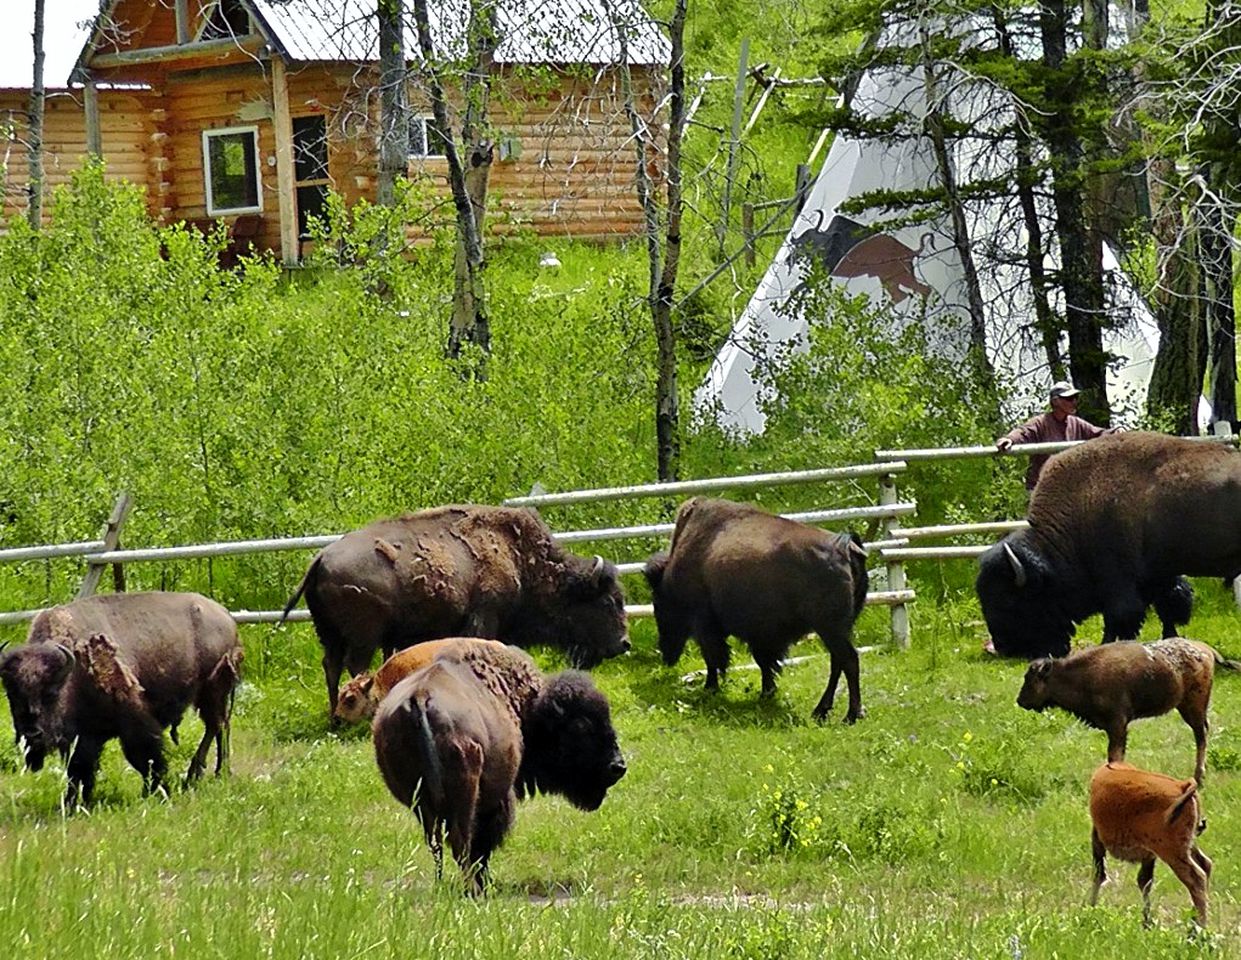
<instances>
[{"instance_id":1,"label":"massive bison cut off by right edge, below man at fence","mask_svg":"<svg viewBox=\"0 0 1241 960\"><path fill-rule=\"evenodd\" d=\"M1101 437L1047 463L1029 520L979 558L998 654L1064 656L1096 613L1104 642L1132 640L1148 605L1175 636L1193 607L1181 574L1241 573L1241 455L1157 433Z\"/></svg>"}]
</instances>

